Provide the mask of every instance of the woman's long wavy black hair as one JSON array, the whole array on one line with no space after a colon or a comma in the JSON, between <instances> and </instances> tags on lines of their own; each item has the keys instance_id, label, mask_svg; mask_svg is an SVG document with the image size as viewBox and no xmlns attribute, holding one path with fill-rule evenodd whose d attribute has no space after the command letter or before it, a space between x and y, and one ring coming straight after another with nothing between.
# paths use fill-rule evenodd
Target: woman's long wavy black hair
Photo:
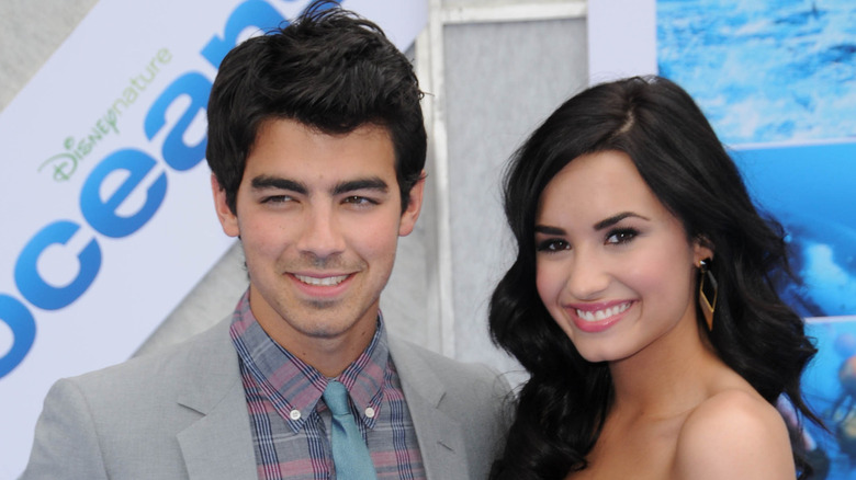
<instances>
[{"instance_id":1,"label":"woman's long wavy black hair","mask_svg":"<svg viewBox=\"0 0 856 480\"><path fill-rule=\"evenodd\" d=\"M758 214L734 162L680 87L657 77L630 78L562 104L506 171L505 213L518 252L491 299L489 325L494 342L530 379L519 392L494 479L562 479L585 468L609 410L608 366L586 362L538 296L534 245L547 184L573 159L606 150L627 153L688 239L701 239L716 252L719 297L708 336L720 358L771 404L785 393L818 421L800 392L800 376L816 350L774 284L790 276L780 225ZM801 457L795 458L804 471Z\"/></svg>"}]
</instances>

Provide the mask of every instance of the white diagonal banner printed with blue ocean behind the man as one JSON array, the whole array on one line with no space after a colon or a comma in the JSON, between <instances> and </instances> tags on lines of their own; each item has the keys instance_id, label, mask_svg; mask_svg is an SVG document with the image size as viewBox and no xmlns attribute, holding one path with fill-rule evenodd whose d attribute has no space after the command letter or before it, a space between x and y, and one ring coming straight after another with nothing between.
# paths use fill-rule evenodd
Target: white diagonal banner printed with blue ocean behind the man
<instances>
[{"instance_id":1,"label":"white diagonal banner printed with blue ocean behind the man","mask_svg":"<svg viewBox=\"0 0 856 480\"><path fill-rule=\"evenodd\" d=\"M0 478L57 378L126 359L232 244L205 104L223 55L307 1L101 0L0 115ZM347 0L404 48L424 0Z\"/></svg>"}]
</instances>

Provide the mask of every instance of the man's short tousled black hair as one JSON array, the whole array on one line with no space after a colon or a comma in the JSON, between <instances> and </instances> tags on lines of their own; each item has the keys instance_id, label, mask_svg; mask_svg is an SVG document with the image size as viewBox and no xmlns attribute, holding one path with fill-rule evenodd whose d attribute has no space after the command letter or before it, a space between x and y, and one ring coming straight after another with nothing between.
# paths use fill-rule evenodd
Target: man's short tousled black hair
<instances>
[{"instance_id":1,"label":"man's short tousled black hair","mask_svg":"<svg viewBox=\"0 0 856 480\"><path fill-rule=\"evenodd\" d=\"M363 125L390 133L402 210L425 167L423 93L413 65L374 23L314 1L290 25L252 37L223 59L209 99L209 167L236 212L247 156L266 121L329 135Z\"/></svg>"}]
</instances>

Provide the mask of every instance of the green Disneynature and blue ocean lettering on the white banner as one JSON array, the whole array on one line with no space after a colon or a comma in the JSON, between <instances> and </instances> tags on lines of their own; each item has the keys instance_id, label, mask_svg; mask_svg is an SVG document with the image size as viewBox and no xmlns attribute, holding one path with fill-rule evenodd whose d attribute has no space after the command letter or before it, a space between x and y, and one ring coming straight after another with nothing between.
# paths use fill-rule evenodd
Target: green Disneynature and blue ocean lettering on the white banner
<instances>
[{"instance_id":1,"label":"green Disneynature and blue ocean lettering on the white banner","mask_svg":"<svg viewBox=\"0 0 856 480\"><path fill-rule=\"evenodd\" d=\"M285 23L285 19L270 2L243 1L232 10L222 28L215 30L212 36L203 39L204 44L199 54L216 70L248 28L263 32ZM54 181L67 182L83 171L79 169L82 162L95 162L79 192L82 218L48 220L33 232L14 263L12 273L18 292L0 292L0 322L4 322L13 335L11 348L0 357L0 378L14 370L32 348L37 331L34 311L58 310L83 296L98 277L103 262L121 260L104 258L102 242L105 239L125 239L145 226L164 203L169 179L204 160L207 137L188 145L185 133L194 118L200 115L204 117L214 79L211 73L191 69L157 91L159 83L156 79L171 60L170 50L158 50L139 73L129 79L128 84L106 106L104 114L92 121L88 130L66 137L59 152L38 165L38 171L50 175ZM132 107L139 107L144 99L153 96L155 100L146 105L143 122L146 136L144 141L148 144L100 151L99 146L105 139L119 136L122 115ZM170 118L178 116L169 127L167 110L170 110ZM179 115L174 115L176 110L180 111ZM160 140L161 136L158 134L167 128L169 132ZM156 141L155 136L159 138L158 145L153 144ZM143 147L146 147L145 150ZM159 147L159 153L149 153L151 147L156 150ZM114 175L115 172L119 173ZM144 179L151 176L155 180L144 185ZM117 187L102 188L108 178L119 178L122 182ZM111 193L108 198L103 198L102 192ZM142 205L135 204L135 210L132 213L124 209L120 213L120 206L135 193L142 193L145 197ZM91 229L82 228L83 225ZM80 236L88 237L78 238ZM79 265L75 278L66 285L56 286L48 283L37 268L38 260L48 248L53 251L60 250L69 261Z\"/></svg>"}]
</instances>

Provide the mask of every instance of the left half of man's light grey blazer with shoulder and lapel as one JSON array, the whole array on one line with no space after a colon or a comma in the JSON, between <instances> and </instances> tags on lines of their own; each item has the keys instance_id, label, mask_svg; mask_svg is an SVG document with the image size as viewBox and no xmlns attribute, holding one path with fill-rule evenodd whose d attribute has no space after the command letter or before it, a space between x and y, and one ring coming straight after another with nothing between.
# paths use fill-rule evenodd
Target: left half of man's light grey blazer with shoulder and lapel
<instances>
[{"instance_id":1,"label":"left half of man's light grey blazer with shoulder and lapel","mask_svg":"<svg viewBox=\"0 0 856 480\"><path fill-rule=\"evenodd\" d=\"M57 381L23 479L256 478L224 320L185 343Z\"/></svg>"}]
</instances>

